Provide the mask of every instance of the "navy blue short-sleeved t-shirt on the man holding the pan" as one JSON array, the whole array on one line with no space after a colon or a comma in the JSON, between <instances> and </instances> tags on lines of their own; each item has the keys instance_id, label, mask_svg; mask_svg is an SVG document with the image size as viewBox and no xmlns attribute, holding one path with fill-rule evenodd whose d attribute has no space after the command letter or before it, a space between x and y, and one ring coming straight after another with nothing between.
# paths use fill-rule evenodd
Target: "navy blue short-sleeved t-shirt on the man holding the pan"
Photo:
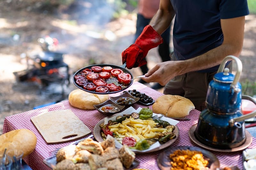
<instances>
[{"instance_id":1,"label":"navy blue short-sleeved t-shirt on the man holding the pan","mask_svg":"<svg viewBox=\"0 0 256 170\"><path fill-rule=\"evenodd\" d=\"M173 26L174 54L186 60L204 54L223 42L220 19L249 14L246 0L171 0L176 13ZM219 66L200 70L217 71Z\"/></svg>"}]
</instances>

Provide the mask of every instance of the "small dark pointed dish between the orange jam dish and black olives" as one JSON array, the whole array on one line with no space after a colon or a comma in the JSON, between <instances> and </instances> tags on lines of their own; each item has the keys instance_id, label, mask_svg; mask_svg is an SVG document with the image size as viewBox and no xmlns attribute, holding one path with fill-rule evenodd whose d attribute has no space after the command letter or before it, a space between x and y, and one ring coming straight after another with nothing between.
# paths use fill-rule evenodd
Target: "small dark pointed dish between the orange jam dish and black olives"
<instances>
[{"instance_id":1,"label":"small dark pointed dish between the orange jam dish and black olives","mask_svg":"<svg viewBox=\"0 0 256 170\"><path fill-rule=\"evenodd\" d=\"M119 105L124 105L124 106L131 106L132 104L136 103L137 101L140 100L140 98L138 97L134 97L132 96L129 92L124 92L122 93L121 95L119 96L115 96L115 97L110 97L111 100L113 100L115 103L119 104ZM119 100L124 100L124 101L129 101L130 103L128 102L120 102Z\"/></svg>"}]
</instances>

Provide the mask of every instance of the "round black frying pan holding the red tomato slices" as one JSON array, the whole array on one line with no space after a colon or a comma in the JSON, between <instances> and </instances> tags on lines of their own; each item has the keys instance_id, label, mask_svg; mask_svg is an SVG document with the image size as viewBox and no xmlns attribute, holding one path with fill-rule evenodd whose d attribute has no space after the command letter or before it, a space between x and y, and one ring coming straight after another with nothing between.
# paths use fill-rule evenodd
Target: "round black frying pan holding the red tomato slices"
<instances>
[{"instance_id":1,"label":"round black frying pan holding the red tomato slices","mask_svg":"<svg viewBox=\"0 0 256 170\"><path fill-rule=\"evenodd\" d=\"M82 70L84 70L84 69L91 69L92 66L100 66L100 67L110 66L110 67L112 67L113 69L121 69L121 70L124 71L124 73L128 73L128 74L131 75L131 77L132 77L132 78L131 78L131 81L130 81L130 83L127 84L127 85L120 84L120 85L122 86L122 90L115 91L115 92L95 92L95 91L86 90L86 89L84 89L83 87L81 87L81 86L79 86L79 85L76 84L75 75L76 75L76 74L79 74L79 73L80 73ZM84 67L84 68L82 68L82 69L76 71L76 73L75 73L74 76L73 76L73 83L74 83L79 89L84 90L84 91L86 91L86 92L94 93L94 94L112 94L112 93L121 92L121 91L127 89L128 87L130 87L130 86L132 85L132 83L133 83L133 75L132 75L132 73L131 73L129 70L125 69L125 67L126 67L126 63L124 63L124 64L121 65L121 66L117 66L117 65L113 65L113 64L94 64L94 65L89 65L89 66L86 66L86 67Z\"/></svg>"}]
</instances>

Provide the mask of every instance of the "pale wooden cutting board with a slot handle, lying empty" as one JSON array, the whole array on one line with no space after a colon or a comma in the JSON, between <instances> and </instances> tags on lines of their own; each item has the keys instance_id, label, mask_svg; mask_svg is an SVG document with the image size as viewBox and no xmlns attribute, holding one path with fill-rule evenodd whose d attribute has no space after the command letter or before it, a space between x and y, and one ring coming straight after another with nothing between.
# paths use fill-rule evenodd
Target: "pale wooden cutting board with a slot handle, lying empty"
<instances>
[{"instance_id":1,"label":"pale wooden cutting board with a slot handle, lying empty","mask_svg":"<svg viewBox=\"0 0 256 170\"><path fill-rule=\"evenodd\" d=\"M70 109L42 113L30 120L48 144L75 140L91 133Z\"/></svg>"}]
</instances>

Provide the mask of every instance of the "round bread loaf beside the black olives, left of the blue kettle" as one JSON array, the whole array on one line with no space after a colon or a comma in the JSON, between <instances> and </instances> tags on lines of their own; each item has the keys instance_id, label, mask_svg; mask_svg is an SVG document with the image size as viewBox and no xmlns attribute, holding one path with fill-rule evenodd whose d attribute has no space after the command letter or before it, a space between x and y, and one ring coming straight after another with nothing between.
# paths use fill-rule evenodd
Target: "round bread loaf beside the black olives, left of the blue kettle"
<instances>
[{"instance_id":1,"label":"round bread loaf beside the black olives, left of the blue kettle","mask_svg":"<svg viewBox=\"0 0 256 170\"><path fill-rule=\"evenodd\" d=\"M194 104L189 99L170 94L158 97L152 105L154 113L168 117L185 117L194 108Z\"/></svg>"}]
</instances>

